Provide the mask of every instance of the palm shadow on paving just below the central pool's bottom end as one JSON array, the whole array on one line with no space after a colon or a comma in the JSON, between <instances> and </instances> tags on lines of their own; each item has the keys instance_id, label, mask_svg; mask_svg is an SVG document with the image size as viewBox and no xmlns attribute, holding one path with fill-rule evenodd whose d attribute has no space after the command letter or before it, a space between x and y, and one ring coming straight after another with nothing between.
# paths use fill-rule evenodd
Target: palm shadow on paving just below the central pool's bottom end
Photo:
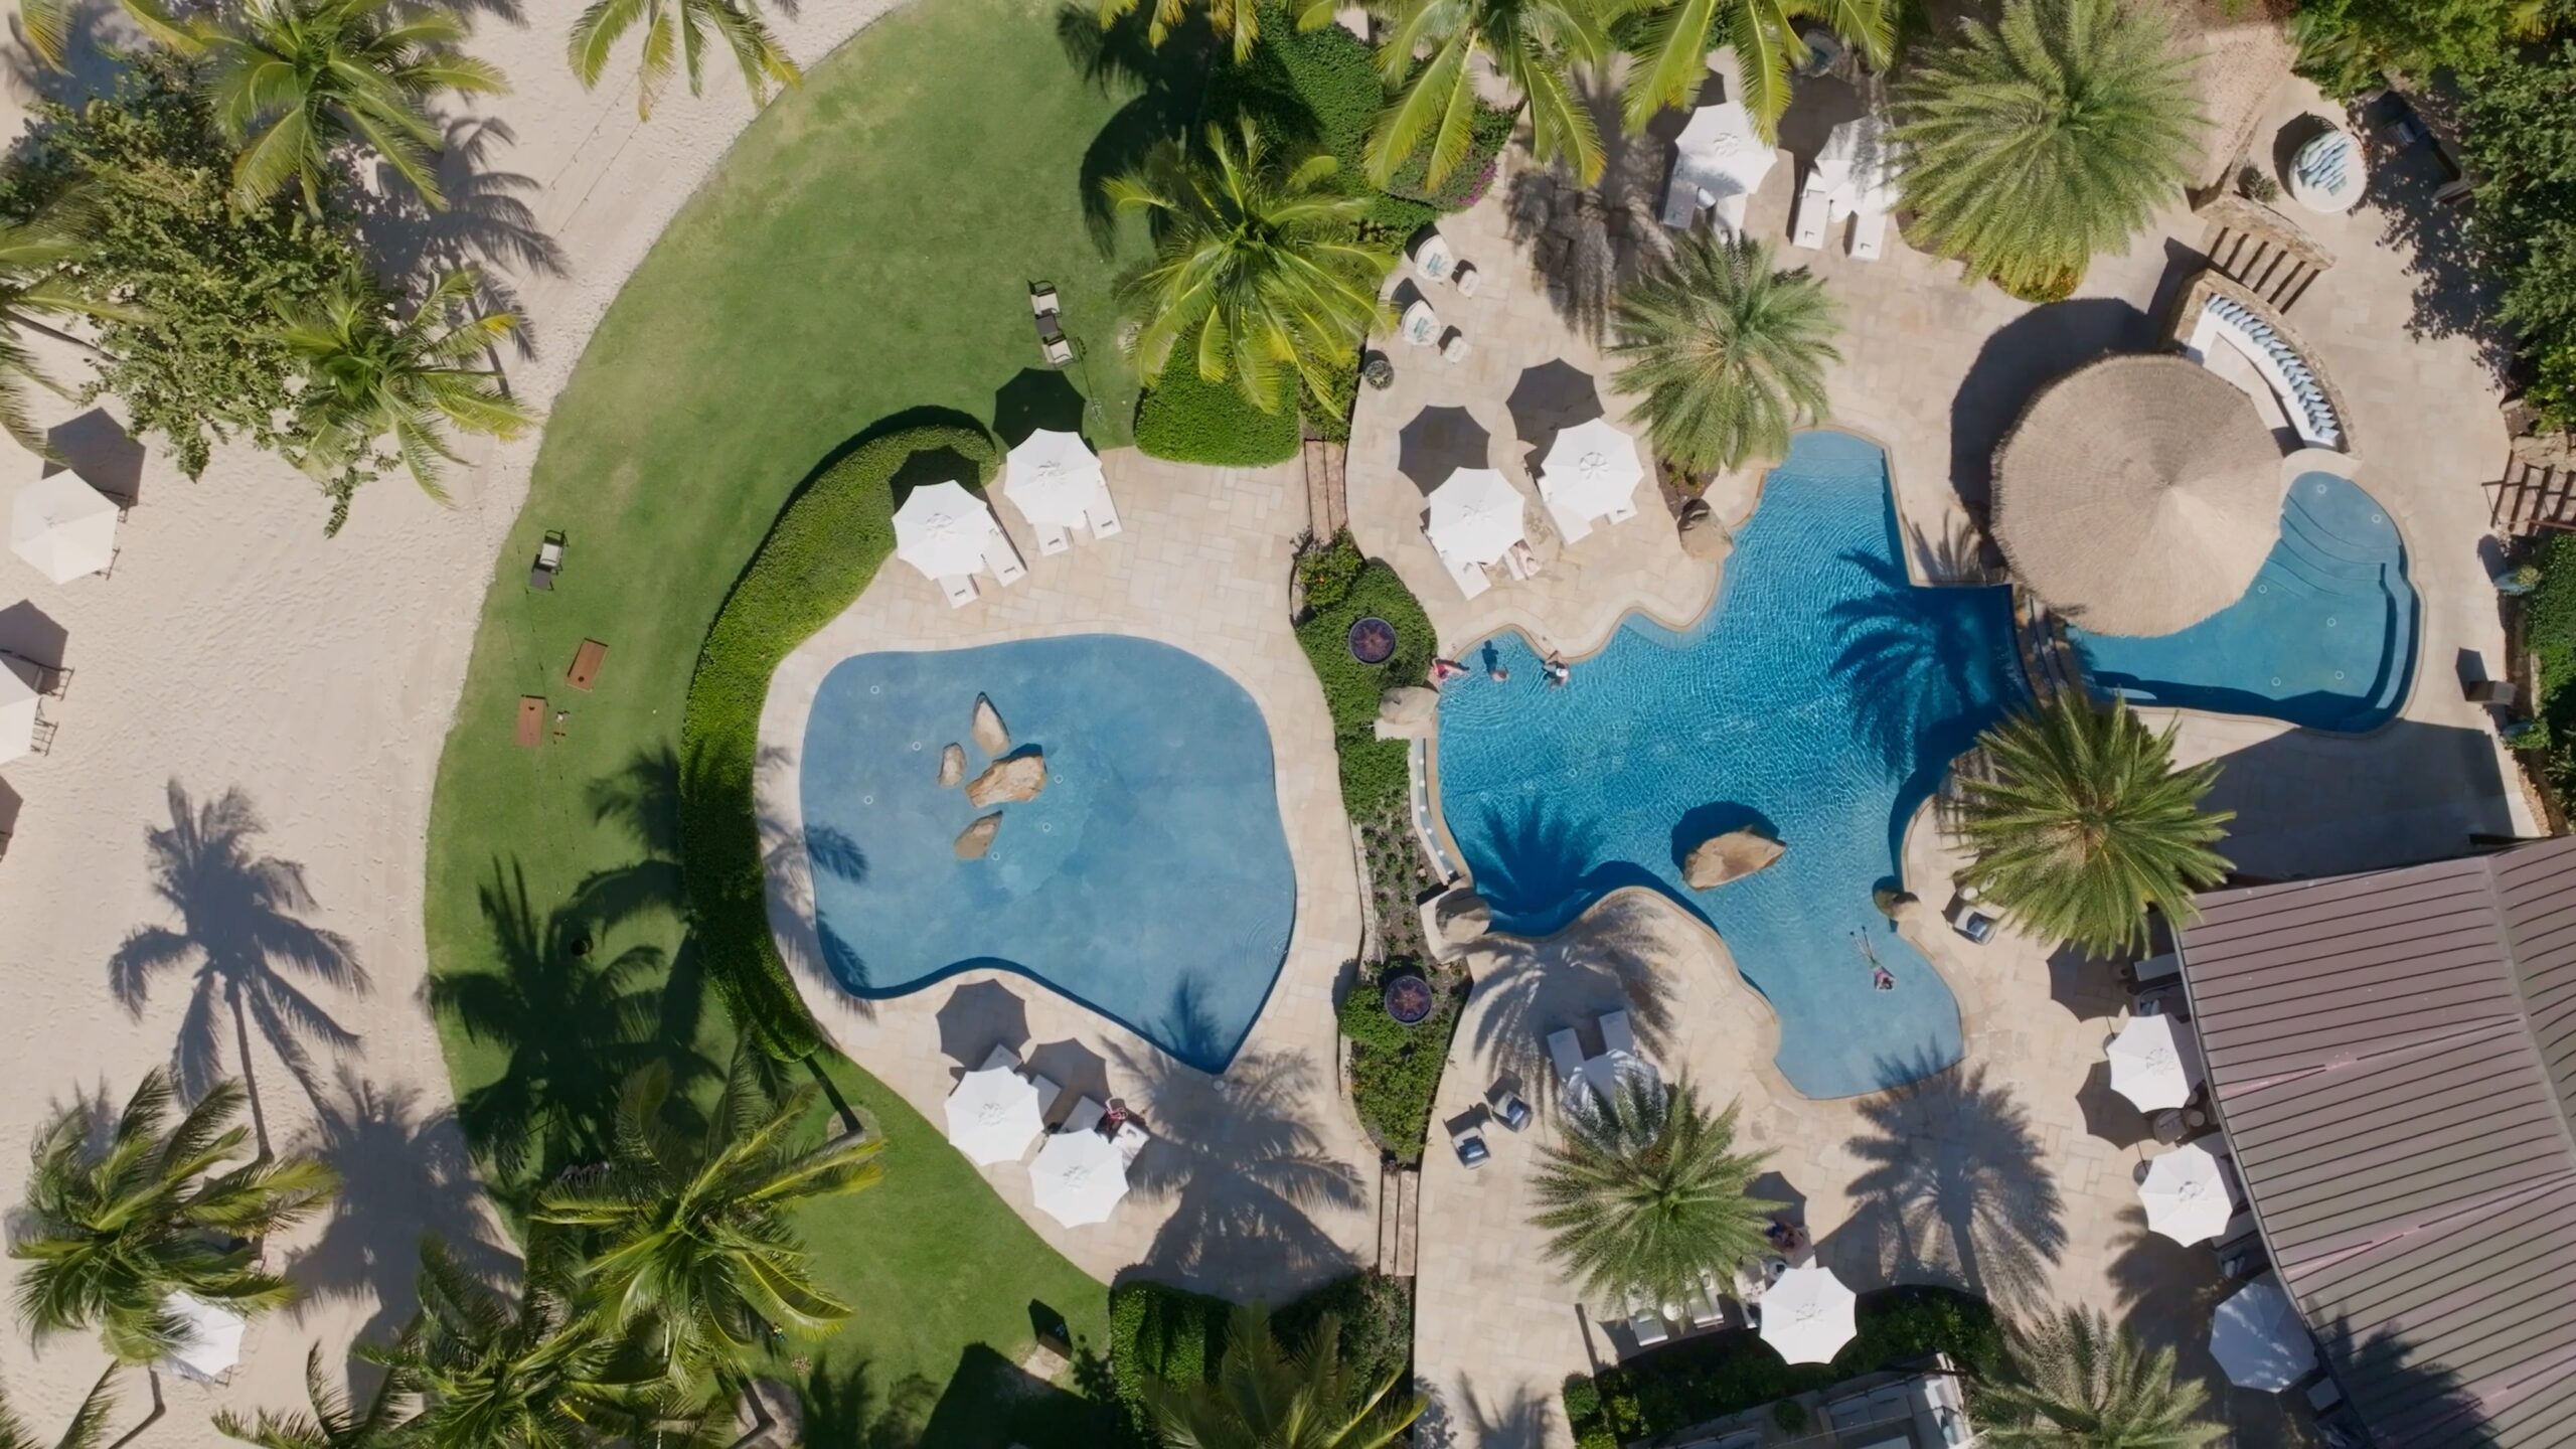
<instances>
[{"instance_id":1,"label":"palm shadow on paving just below the central pool's bottom end","mask_svg":"<svg viewBox=\"0 0 2576 1449\"><path fill-rule=\"evenodd\" d=\"M2043 1305L2048 1269L2066 1253L2066 1204L2009 1083L1929 1060L1880 1062L1878 1075L1919 1080L1860 1106L1868 1132L1844 1150L1868 1171L1837 1250L1893 1281L1958 1287L2007 1310Z\"/></svg>"}]
</instances>

